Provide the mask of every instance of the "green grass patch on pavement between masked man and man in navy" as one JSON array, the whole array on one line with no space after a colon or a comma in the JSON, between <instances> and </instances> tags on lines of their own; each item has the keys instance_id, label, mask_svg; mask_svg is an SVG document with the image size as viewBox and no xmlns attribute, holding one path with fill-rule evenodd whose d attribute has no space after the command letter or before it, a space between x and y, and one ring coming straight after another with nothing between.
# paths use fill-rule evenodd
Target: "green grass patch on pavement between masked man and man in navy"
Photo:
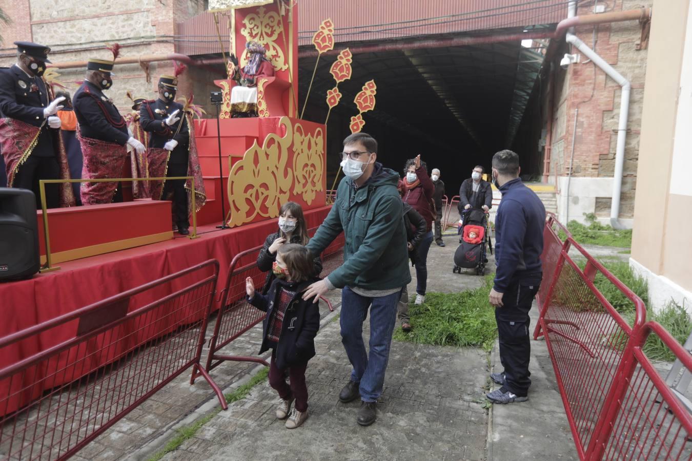
<instances>
[{"instance_id":1,"label":"green grass patch on pavement between masked man and man in navy","mask_svg":"<svg viewBox=\"0 0 692 461\"><path fill-rule=\"evenodd\" d=\"M394 339L435 346L475 346L491 350L497 337L495 312L488 303L493 276L475 290L426 294L426 302L409 305L412 330L394 330Z\"/></svg>"}]
</instances>

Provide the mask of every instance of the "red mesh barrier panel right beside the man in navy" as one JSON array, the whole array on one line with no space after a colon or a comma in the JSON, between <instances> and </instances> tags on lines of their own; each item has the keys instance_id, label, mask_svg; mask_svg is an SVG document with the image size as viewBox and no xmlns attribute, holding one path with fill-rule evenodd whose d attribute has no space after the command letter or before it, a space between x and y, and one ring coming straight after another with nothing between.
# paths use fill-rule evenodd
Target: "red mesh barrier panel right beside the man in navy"
<instances>
[{"instance_id":1,"label":"red mesh barrier panel right beside the man in navy","mask_svg":"<svg viewBox=\"0 0 692 461\"><path fill-rule=\"evenodd\" d=\"M586 258L584 270L567 254L570 247ZM598 273L634 304L633 327L594 285ZM581 459L588 459L594 440L608 422L608 404L621 397L620 384L628 378L628 351L634 333L646 320L644 303L571 237L563 244L543 303L540 328L577 452Z\"/></svg>"}]
</instances>

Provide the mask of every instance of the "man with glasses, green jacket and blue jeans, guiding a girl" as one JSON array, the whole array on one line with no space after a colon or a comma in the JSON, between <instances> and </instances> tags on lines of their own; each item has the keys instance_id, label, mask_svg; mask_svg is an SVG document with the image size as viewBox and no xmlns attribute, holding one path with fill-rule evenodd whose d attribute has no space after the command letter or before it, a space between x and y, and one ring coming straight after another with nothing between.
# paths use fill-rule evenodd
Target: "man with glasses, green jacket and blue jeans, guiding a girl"
<instances>
[{"instance_id":1,"label":"man with glasses, green jacket and blue jeans, guiding a girl","mask_svg":"<svg viewBox=\"0 0 692 461\"><path fill-rule=\"evenodd\" d=\"M356 422L376 420L392 332L401 290L411 281L408 269L403 204L397 191L399 173L376 162L377 142L366 133L344 140L340 153L345 178L325 222L308 243L315 255L345 236L344 263L326 279L309 286L303 299L318 300L341 288L341 342L353 366L349 382L339 394L343 403L361 398ZM370 308L370 355L363 344L363 321Z\"/></svg>"}]
</instances>

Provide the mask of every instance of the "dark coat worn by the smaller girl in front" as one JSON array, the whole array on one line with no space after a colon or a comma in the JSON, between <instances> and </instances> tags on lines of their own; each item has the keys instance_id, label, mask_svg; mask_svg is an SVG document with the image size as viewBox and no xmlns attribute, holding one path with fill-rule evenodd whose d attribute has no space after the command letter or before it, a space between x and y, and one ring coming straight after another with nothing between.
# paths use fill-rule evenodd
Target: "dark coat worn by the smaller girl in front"
<instances>
[{"instance_id":1,"label":"dark coat worn by the smaller girl in front","mask_svg":"<svg viewBox=\"0 0 692 461\"><path fill-rule=\"evenodd\" d=\"M291 283L283 279L274 279L267 294L255 291L255 296L247 298L248 303L266 312L266 317L262 321L262 347L260 348L260 354L262 354L269 350L269 341L266 337L268 323L274 306L279 302L280 288L286 287L288 290L295 291L295 296L284 312L279 344L275 348L276 366L280 370L289 368L291 365L303 364L315 357L315 337L320 329L320 307L312 300L302 299L303 292L313 281Z\"/></svg>"}]
</instances>

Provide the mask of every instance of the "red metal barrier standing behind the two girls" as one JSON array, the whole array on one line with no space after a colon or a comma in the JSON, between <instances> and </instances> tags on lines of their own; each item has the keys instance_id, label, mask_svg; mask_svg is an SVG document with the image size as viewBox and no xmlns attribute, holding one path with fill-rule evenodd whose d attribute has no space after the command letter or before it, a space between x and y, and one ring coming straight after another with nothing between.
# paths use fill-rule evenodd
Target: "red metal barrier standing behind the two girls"
<instances>
[{"instance_id":1,"label":"red metal barrier standing behind the two girls","mask_svg":"<svg viewBox=\"0 0 692 461\"><path fill-rule=\"evenodd\" d=\"M308 234L313 235L317 228L309 229ZM336 267L343 264L343 233L322 252L322 273L324 278ZM253 361L265 366L267 362L261 357L225 355L219 351L228 346L244 332L260 323L266 315L259 309L250 305L246 300L245 279L251 277L255 282L255 288L262 290L266 280L266 272L260 271L257 267L257 255L262 250L262 245L246 250L235 255L230 263L228 279L223 291L222 307L219 309L214 334L212 335L209 355L207 357L206 370L211 371L226 360L231 361ZM329 310L334 310L328 299L320 298L325 301ZM197 375L193 373L191 382Z\"/></svg>"}]
</instances>

